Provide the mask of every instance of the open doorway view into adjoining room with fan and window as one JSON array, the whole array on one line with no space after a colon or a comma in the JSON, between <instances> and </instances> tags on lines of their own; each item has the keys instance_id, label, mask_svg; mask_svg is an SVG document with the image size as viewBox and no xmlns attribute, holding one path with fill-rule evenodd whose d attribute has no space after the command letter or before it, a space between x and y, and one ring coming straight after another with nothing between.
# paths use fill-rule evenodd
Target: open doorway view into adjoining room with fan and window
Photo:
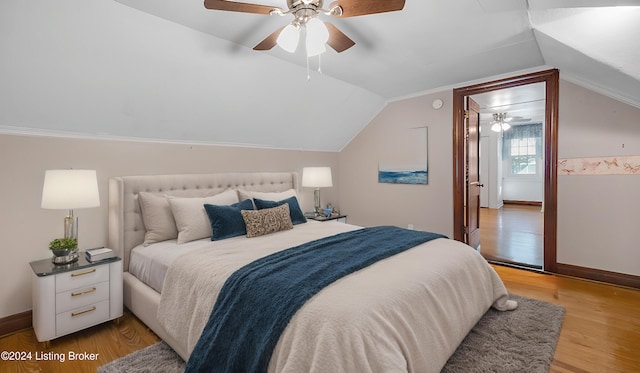
<instances>
[{"instance_id":1,"label":"open doorway view into adjoining room with fan and window","mask_svg":"<svg viewBox=\"0 0 640 373\"><path fill-rule=\"evenodd\" d=\"M480 106L478 249L491 262L542 270L545 83L470 97Z\"/></svg>"}]
</instances>

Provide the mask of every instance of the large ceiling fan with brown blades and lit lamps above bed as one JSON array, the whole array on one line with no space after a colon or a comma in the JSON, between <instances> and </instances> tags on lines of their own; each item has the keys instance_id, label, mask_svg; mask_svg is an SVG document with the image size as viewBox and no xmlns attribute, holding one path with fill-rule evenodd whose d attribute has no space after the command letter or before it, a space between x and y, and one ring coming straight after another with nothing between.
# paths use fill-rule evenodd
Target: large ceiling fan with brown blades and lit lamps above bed
<instances>
[{"instance_id":1,"label":"large ceiling fan with brown blades and lit lamps above bed","mask_svg":"<svg viewBox=\"0 0 640 373\"><path fill-rule=\"evenodd\" d=\"M355 45L347 35L330 22L323 22L318 15L336 18L356 17L367 14L393 12L404 8L405 0L337 0L324 9L323 0L287 0L288 10L280 7L241 3L228 0L204 0L204 7L213 10L254 13L264 15L293 15L293 21L267 36L254 50L269 50L279 45L289 53L295 52L301 29L305 29L307 56L315 56L325 51L328 44L336 52L344 52Z\"/></svg>"}]
</instances>

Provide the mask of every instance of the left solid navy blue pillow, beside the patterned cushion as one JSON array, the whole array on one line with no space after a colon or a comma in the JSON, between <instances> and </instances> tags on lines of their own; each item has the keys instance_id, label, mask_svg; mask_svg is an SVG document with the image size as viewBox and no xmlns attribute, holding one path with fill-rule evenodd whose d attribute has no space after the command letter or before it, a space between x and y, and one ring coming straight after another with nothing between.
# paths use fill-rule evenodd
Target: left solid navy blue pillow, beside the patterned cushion
<instances>
[{"instance_id":1,"label":"left solid navy blue pillow, beside the patterned cushion","mask_svg":"<svg viewBox=\"0 0 640 373\"><path fill-rule=\"evenodd\" d=\"M245 199L228 206L205 204L204 209L211 222L211 241L224 240L247 234L241 210L254 210L253 202Z\"/></svg>"}]
</instances>

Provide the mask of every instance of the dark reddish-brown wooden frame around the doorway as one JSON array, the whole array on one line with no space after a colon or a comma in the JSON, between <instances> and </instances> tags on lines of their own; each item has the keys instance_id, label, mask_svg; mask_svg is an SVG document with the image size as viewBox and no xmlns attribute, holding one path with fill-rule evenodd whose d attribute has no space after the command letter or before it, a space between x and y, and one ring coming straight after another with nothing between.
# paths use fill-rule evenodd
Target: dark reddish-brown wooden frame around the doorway
<instances>
[{"instance_id":1,"label":"dark reddish-brown wooden frame around the doorway","mask_svg":"<svg viewBox=\"0 0 640 373\"><path fill-rule=\"evenodd\" d=\"M544 271L557 272L557 165L558 165L558 103L559 71L551 69L470 85L453 90L453 238L464 242L465 198L465 121L464 99L479 93L512 88L526 84L545 84L544 129Z\"/></svg>"}]
</instances>

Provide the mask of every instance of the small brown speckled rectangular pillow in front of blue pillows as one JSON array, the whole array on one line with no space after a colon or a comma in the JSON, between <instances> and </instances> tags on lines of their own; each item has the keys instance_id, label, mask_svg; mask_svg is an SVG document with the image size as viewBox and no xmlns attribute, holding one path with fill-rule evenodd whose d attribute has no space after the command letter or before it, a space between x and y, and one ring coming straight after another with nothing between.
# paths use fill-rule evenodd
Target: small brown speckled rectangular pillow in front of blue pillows
<instances>
[{"instance_id":1,"label":"small brown speckled rectangular pillow in front of blue pillows","mask_svg":"<svg viewBox=\"0 0 640 373\"><path fill-rule=\"evenodd\" d=\"M242 210L240 213L247 226L247 237L293 229L287 203L269 209Z\"/></svg>"}]
</instances>

